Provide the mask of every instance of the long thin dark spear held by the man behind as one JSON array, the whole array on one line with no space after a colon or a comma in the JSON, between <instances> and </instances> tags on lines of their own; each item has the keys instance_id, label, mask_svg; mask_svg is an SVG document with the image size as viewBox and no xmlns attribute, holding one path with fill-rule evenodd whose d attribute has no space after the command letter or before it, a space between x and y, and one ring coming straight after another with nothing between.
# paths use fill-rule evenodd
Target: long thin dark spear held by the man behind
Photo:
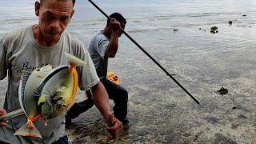
<instances>
[{"instance_id":1,"label":"long thin dark spear held by the man behind","mask_svg":"<svg viewBox=\"0 0 256 144\"><path fill-rule=\"evenodd\" d=\"M94 6L96 7L96 9L98 9L102 14L104 14L106 18L110 19L110 17L109 17L108 15L106 15L106 13L105 13L103 10L101 10L94 2L92 2L91 0L88 0L88 1L89 1L92 5L94 5ZM125 30L122 30L122 29L121 29L121 31L122 31L123 34L125 34L125 35L127 36L127 38L129 38L132 42L134 42L134 44L135 44L136 46L138 46L138 48L139 48L140 50L142 50L155 64L157 64L170 78L172 78L172 79L174 80L174 82L176 82L176 83L178 84L178 86L180 86L180 87L182 88L182 90L184 90L184 91L186 92L186 94L188 94L191 98L193 98L194 102L197 102L198 105L200 105L200 103L198 102L198 100L197 100L196 98L194 98L194 97L193 97L193 96L192 96L192 95L191 95L191 94L173 77L173 76L171 76L171 74L170 74L166 69L164 69L150 54L148 54L148 53L146 52L146 50L144 50L144 49L142 48L142 46L140 46L140 45L138 44L138 42L136 42L133 38L131 38L130 35L127 34Z\"/></svg>"}]
</instances>

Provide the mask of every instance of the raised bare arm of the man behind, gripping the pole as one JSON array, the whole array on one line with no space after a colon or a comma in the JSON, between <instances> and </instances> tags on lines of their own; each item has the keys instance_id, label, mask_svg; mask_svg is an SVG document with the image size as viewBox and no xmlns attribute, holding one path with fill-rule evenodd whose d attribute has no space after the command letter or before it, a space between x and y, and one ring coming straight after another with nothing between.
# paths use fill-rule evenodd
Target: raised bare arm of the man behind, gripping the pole
<instances>
[{"instance_id":1,"label":"raised bare arm of the man behind, gripping the pole","mask_svg":"<svg viewBox=\"0 0 256 144\"><path fill-rule=\"evenodd\" d=\"M118 37L119 37L119 31L120 31L120 22L112 18L110 21L110 27L112 30L112 34L110 36L110 42L106 48L105 54L108 58L114 58L115 54L118 51Z\"/></svg>"}]
</instances>

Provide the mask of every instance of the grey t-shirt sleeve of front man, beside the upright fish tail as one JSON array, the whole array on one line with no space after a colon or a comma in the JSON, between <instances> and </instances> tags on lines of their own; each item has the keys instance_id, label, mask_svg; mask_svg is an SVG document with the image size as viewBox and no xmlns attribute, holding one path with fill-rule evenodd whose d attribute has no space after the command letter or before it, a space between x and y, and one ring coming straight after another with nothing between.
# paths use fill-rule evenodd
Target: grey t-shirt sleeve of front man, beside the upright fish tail
<instances>
[{"instance_id":1,"label":"grey t-shirt sleeve of front man, beside the upright fish tail","mask_svg":"<svg viewBox=\"0 0 256 144\"><path fill-rule=\"evenodd\" d=\"M95 86L99 82L94 63L90 58L90 54L87 52L82 44L80 44L77 56L78 58L82 58L82 60L86 62L85 66L77 67L78 86L80 90L89 90L91 87Z\"/></svg>"}]
</instances>

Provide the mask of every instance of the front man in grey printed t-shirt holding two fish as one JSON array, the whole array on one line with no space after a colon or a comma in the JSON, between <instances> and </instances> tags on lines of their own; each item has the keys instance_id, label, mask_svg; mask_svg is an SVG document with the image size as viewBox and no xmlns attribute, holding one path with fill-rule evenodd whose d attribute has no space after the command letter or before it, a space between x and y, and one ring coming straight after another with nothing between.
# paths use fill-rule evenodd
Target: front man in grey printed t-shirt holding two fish
<instances>
[{"instance_id":1,"label":"front man in grey printed t-shirt holding two fish","mask_svg":"<svg viewBox=\"0 0 256 144\"><path fill-rule=\"evenodd\" d=\"M122 122L110 112L106 90L99 81L90 55L82 42L72 38L65 29L74 14L74 0L40 0L35 2L35 14L39 22L22 30L6 35L0 42L0 79L8 75L8 88L4 109L0 116L21 108L18 102L18 86L22 70L32 71L48 64L53 67L68 65L64 53L73 54L86 62L78 70L78 86L81 90L91 90L98 110L106 119L107 130L114 137L122 128ZM42 138L14 136L14 132L26 124L26 116L11 118L9 122L0 122L0 143L52 143L64 142L65 116L60 114L50 119L45 126L42 120L34 122Z\"/></svg>"}]
</instances>

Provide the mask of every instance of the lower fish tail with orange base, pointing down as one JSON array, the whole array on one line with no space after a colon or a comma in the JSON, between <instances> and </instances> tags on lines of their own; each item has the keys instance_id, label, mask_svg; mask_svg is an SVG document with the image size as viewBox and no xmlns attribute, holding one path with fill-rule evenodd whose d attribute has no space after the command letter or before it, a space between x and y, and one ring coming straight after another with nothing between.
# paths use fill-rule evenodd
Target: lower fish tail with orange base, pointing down
<instances>
[{"instance_id":1,"label":"lower fish tail with orange base, pointing down","mask_svg":"<svg viewBox=\"0 0 256 144\"><path fill-rule=\"evenodd\" d=\"M34 123L33 123L32 120L30 120L30 118L32 118L33 120L37 119L37 118L33 118L33 117L29 116L28 121L26 122L26 125L24 125L21 128L19 128L14 133L14 135L21 135L21 136L25 136L25 137L38 137L38 138L42 138L42 135L40 134L38 129L34 126Z\"/></svg>"}]
</instances>

